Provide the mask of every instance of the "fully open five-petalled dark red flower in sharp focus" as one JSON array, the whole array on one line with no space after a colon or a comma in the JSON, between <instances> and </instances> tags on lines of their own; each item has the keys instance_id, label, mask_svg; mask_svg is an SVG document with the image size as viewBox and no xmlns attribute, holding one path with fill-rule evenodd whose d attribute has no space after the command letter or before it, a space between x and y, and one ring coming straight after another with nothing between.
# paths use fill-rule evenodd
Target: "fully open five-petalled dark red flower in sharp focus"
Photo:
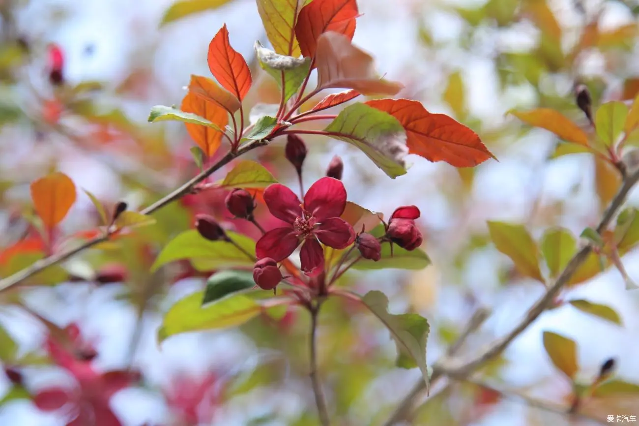
<instances>
[{"instance_id":1,"label":"fully open five-petalled dark red flower in sharp focus","mask_svg":"<svg viewBox=\"0 0 639 426\"><path fill-rule=\"evenodd\" d=\"M270 257L281 262L301 243L302 271L316 276L324 269L324 250L319 242L343 249L355 240L353 227L339 217L346 209L346 189L337 179L323 177L312 184L304 196L304 204L281 184L266 188L264 201L271 214L289 226L270 230L259 239L258 258Z\"/></svg>"}]
</instances>

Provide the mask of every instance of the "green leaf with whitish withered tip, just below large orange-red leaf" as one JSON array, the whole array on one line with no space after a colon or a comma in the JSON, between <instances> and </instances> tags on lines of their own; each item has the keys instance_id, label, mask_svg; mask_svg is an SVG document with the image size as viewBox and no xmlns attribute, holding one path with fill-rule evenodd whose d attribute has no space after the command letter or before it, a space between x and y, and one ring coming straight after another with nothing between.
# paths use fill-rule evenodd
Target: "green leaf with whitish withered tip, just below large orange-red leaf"
<instances>
[{"instance_id":1,"label":"green leaf with whitish withered tip, just below large orange-red leaf","mask_svg":"<svg viewBox=\"0 0 639 426\"><path fill-rule=\"evenodd\" d=\"M357 146L390 178L406 174L406 132L394 116L357 102L344 108L325 132Z\"/></svg>"}]
</instances>

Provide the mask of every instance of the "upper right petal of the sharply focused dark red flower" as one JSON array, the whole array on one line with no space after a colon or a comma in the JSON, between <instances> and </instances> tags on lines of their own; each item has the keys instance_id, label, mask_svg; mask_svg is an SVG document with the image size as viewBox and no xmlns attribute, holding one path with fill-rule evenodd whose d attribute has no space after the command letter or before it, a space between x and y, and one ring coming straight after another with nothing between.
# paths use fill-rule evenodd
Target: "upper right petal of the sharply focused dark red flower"
<instances>
[{"instance_id":1,"label":"upper right petal of the sharply focused dark red flower","mask_svg":"<svg viewBox=\"0 0 639 426\"><path fill-rule=\"evenodd\" d=\"M304 209L318 220L342 216L346 209L346 188L341 180L323 177L304 196Z\"/></svg>"}]
</instances>

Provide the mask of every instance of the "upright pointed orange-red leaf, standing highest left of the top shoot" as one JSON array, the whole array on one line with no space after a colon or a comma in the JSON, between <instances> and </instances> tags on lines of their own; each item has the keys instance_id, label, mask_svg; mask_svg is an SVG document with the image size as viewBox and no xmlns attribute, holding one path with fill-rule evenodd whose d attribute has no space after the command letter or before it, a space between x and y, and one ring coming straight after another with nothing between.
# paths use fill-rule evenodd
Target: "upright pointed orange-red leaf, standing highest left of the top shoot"
<instances>
[{"instance_id":1,"label":"upright pointed orange-red leaf, standing highest left of the top shoot","mask_svg":"<svg viewBox=\"0 0 639 426\"><path fill-rule=\"evenodd\" d=\"M220 28L208 45L208 68L222 87L242 101L250 89L252 79L249 65L229 43L226 24Z\"/></svg>"}]
</instances>

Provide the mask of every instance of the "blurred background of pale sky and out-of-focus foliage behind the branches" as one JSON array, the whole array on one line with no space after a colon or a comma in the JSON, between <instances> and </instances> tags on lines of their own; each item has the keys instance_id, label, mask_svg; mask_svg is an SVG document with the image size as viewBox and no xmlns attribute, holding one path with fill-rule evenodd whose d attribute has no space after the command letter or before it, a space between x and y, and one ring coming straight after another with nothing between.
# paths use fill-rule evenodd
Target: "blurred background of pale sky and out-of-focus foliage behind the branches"
<instances>
[{"instance_id":1,"label":"blurred background of pale sky and out-of-focus foliage behind the branches","mask_svg":"<svg viewBox=\"0 0 639 426\"><path fill-rule=\"evenodd\" d=\"M358 4L362 16L353 43L375 56L378 72L404 84L398 96L419 100L432 113L450 114L475 130L498 161L456 169L411 156L409 173L391 180L350 145L309 137L305 185L323 176L330 159L339 155L349 200L387 217L399 205L420 208L424 248L433 265L419 272L353 272L349 285L362 294L382 290L389 295L390 312L426 317L429 363L443 354L475 308L491 307L493 314L463 349L472 353L507 333L544 292L541 283L519 276L495 249L486 221L523 223L537 239L551 226L564 226L576 237L597 225L619 185L613 168L591 154L564 155L556 136L521 125L507 112L551 107L587 127L574 104L574 84L587 84L596 106L634 99L639 3ZM210 76L208 43L222 24L231 45L252 64L256 83L246 102L279 101L277 84L254 63L255 41L268 44L255 2L199 0L199 5L200 12L180 16L173 0L0 1L0 276L26 265L10 249L33 235L29 184L49 171L63 171L109 208L125 200L130 209L149 205L197 173L183 124L146 120L156 104L180 104L191 74ZM50 77L56 61L62 79L54 83L61 84L52 84ZM295 185L283 146L276 141L251 153L252 159ZM214 178L223 176L220 171ZM634 191L627 203L639 207L638 195ZM11 374L0 374L0 425L65 425L68 410L42 409L46 404L36 406L34 395L52 388L90 393L104 387L52 362L55 348L47 343L52 330L69 324L95 349L95 371L132 366L141 373L139 383L119 386L108 400L122 425L319 424L307 375L304 312L289 312L281 321L258 317L240 329L174 336L157 345L162 313L203 288L208 276L188 262L150 274L162 246L192 227L199 212L253 232L227 217L224 196L207 191L160 210L157 225L138 238L73 258L63 265L61 280L40 277L33 283L38 285L22 288L20 306L17 294L0 296L0 335L15 343L19 354L11 362L3 358ZM78 191L63 233L93 229L98 218L89 196ZM630 278L639 280L637 253L622 260ZM58 285L42 286L49 279ZM586 277L561 298L606 304L619 313L621 325L563 304L544 313L479 377L566 407L571 385L551 365L542 343L543 331L555 331L578 343L583 383L592 381L606 359L615 358L618 378L639 384L638 295L626 290L617 269ZM388 331L371 315L337 301L326 304L319 369L339 424L383 424L419 381L417 369L394 367L395 356ZM435 386L430 398L424 395L418 402L424 404L412 419L415 425L568 422L561 414L470 383ZM599 423L608 415L639 416L639 393L602 397L583 411ZM91 422L70 424L117 425Z\"/></svg>"}]
</instances>

